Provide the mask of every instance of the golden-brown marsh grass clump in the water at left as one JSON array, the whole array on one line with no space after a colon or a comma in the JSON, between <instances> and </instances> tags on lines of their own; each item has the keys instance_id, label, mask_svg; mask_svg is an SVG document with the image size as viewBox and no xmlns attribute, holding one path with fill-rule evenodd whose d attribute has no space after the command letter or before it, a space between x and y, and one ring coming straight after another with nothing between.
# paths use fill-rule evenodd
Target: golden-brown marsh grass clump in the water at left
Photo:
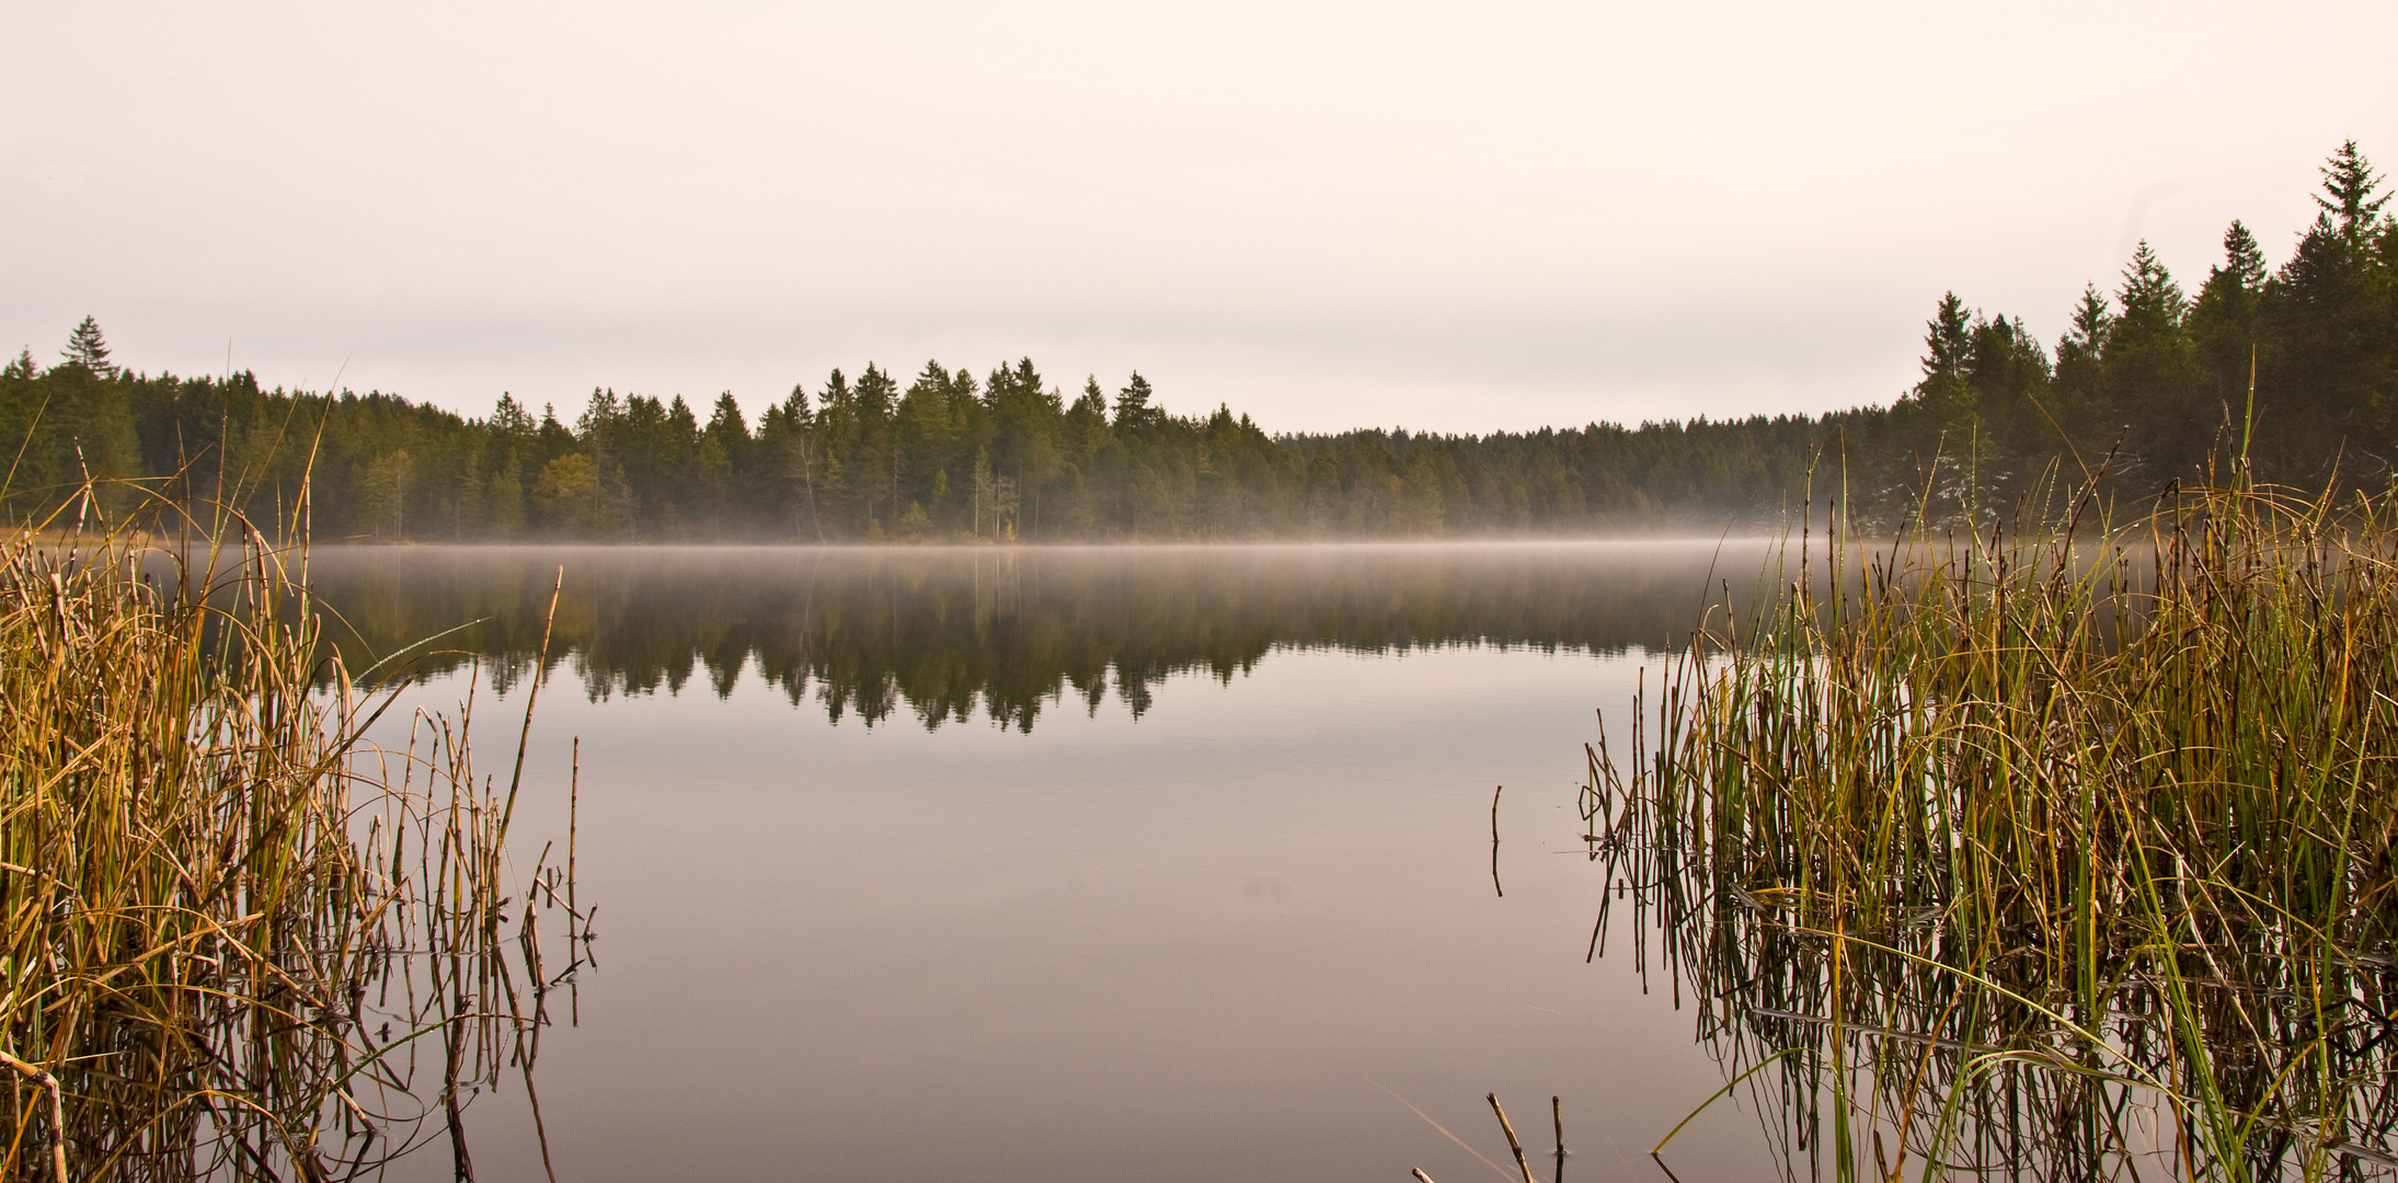
<instances>
[{"instance_id":1,"label":"golden-brown marsh grass clump in the water at left","mask_svg":"<svg viewBox=\"0 0 2398 1183\"><path fill-rule=\"evenodd\" d=\"M324 1181L441 1140L472 1178L463 1109L530 1092L585 948L547 852L506 859L523 749L480 773L472 701L367 744L398 689L319 643L305 550L144 550L91 506L0 547L0 1178Z\"/></svg>"}]
</instances>

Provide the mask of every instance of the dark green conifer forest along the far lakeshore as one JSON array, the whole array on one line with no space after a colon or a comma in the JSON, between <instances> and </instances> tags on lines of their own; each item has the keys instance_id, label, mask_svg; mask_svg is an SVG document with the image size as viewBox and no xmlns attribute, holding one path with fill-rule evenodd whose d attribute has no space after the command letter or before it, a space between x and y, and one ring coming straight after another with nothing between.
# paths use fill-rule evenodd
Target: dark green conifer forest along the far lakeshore
<instances>
[{"instance_id":1,"label":"dark green conifer forest along the far lakeshore","mask_svg":"<svg viewBox=\"0 0 2398 1183\"><path fill-rule=\"evenodd\" d=\"M1170 415L1141 374L1060 384L1029 358L835 370L755 418L731 394L611 389L460 418L125 372L86 319L58 365L0 370L7 509L55 506L89 473L261 523L305 485L317 538L1173 542L1758 528L1815 458L1868 523L2005 511L2050 470L2144 494L2242 449L2264 480L2379 485L2398 456L2398 218L2355 144L2316 202L2278 264L2235 221L2194 290L2141 242L2053 348L1947 295L1923 379L1887 408L1482 437L1269 434L1230 408Z\"/></svg>"}]
</instances>

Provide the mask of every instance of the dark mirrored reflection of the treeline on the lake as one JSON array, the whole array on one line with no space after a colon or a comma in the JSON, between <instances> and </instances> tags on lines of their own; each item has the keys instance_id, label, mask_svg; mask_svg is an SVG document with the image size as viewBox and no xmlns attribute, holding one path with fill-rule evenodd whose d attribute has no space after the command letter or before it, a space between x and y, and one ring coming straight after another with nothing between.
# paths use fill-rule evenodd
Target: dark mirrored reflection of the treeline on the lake
<instances>
[{"instance_id":1,"label":"dark mirrored reflection of the treeline on the lake","mask_svg":"<svg viewBox=\"0 0 2398 1183\"><path fill-rule=\"evenodd\" d=\"M312 583L367 667L441 636L422 672L530 672L559 569L554 662L592 698L719 698L753 669L837 722L976 713L1031 729L1110 693L1134 715L1180 672L1247 672L1276 648L1530 645L1626 653L1686 636L1705 588L1758 545L746 550L341 547ZM463 631L460 624L472 624Z\"/></svg>"}]
</instances>

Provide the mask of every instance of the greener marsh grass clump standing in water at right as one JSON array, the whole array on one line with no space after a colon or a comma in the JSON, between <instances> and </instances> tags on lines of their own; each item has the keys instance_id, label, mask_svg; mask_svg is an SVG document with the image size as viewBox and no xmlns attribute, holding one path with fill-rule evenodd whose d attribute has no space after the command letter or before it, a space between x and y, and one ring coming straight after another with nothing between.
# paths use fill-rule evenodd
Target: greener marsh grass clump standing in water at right
<instances>
[{"instance_id":1,"label":"greener marsh grass clump standing in water at right","mask_svg":"<svg viewBox=\"0 0 2398 1183\"><path fill-rule=\"evenodd\" d=\"M2398 497L2093 518L1834 514L1590 749L1607 907L1794 1176L2398 1166Z\"/></svg>"}]
</instances>

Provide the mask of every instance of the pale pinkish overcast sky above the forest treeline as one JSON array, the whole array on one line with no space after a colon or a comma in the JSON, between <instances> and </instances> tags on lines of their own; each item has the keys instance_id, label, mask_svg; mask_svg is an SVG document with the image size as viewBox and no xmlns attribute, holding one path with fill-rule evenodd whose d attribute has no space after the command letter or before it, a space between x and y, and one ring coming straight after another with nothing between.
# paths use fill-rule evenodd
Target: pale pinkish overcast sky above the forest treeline
<instances>
[{"instance_id":1,"label":"pale pinkish overcast sky above the forest treeline","mask_svg":"<svg viewBox=\"0 0 2398 1183\"><path fill-rule=\"evenodd\" d=\"M0 2L0 348L482 415L1019 355L1269 432L1818 413L2280 262L2376 2Z\"/></svg>"}]
</instances>

